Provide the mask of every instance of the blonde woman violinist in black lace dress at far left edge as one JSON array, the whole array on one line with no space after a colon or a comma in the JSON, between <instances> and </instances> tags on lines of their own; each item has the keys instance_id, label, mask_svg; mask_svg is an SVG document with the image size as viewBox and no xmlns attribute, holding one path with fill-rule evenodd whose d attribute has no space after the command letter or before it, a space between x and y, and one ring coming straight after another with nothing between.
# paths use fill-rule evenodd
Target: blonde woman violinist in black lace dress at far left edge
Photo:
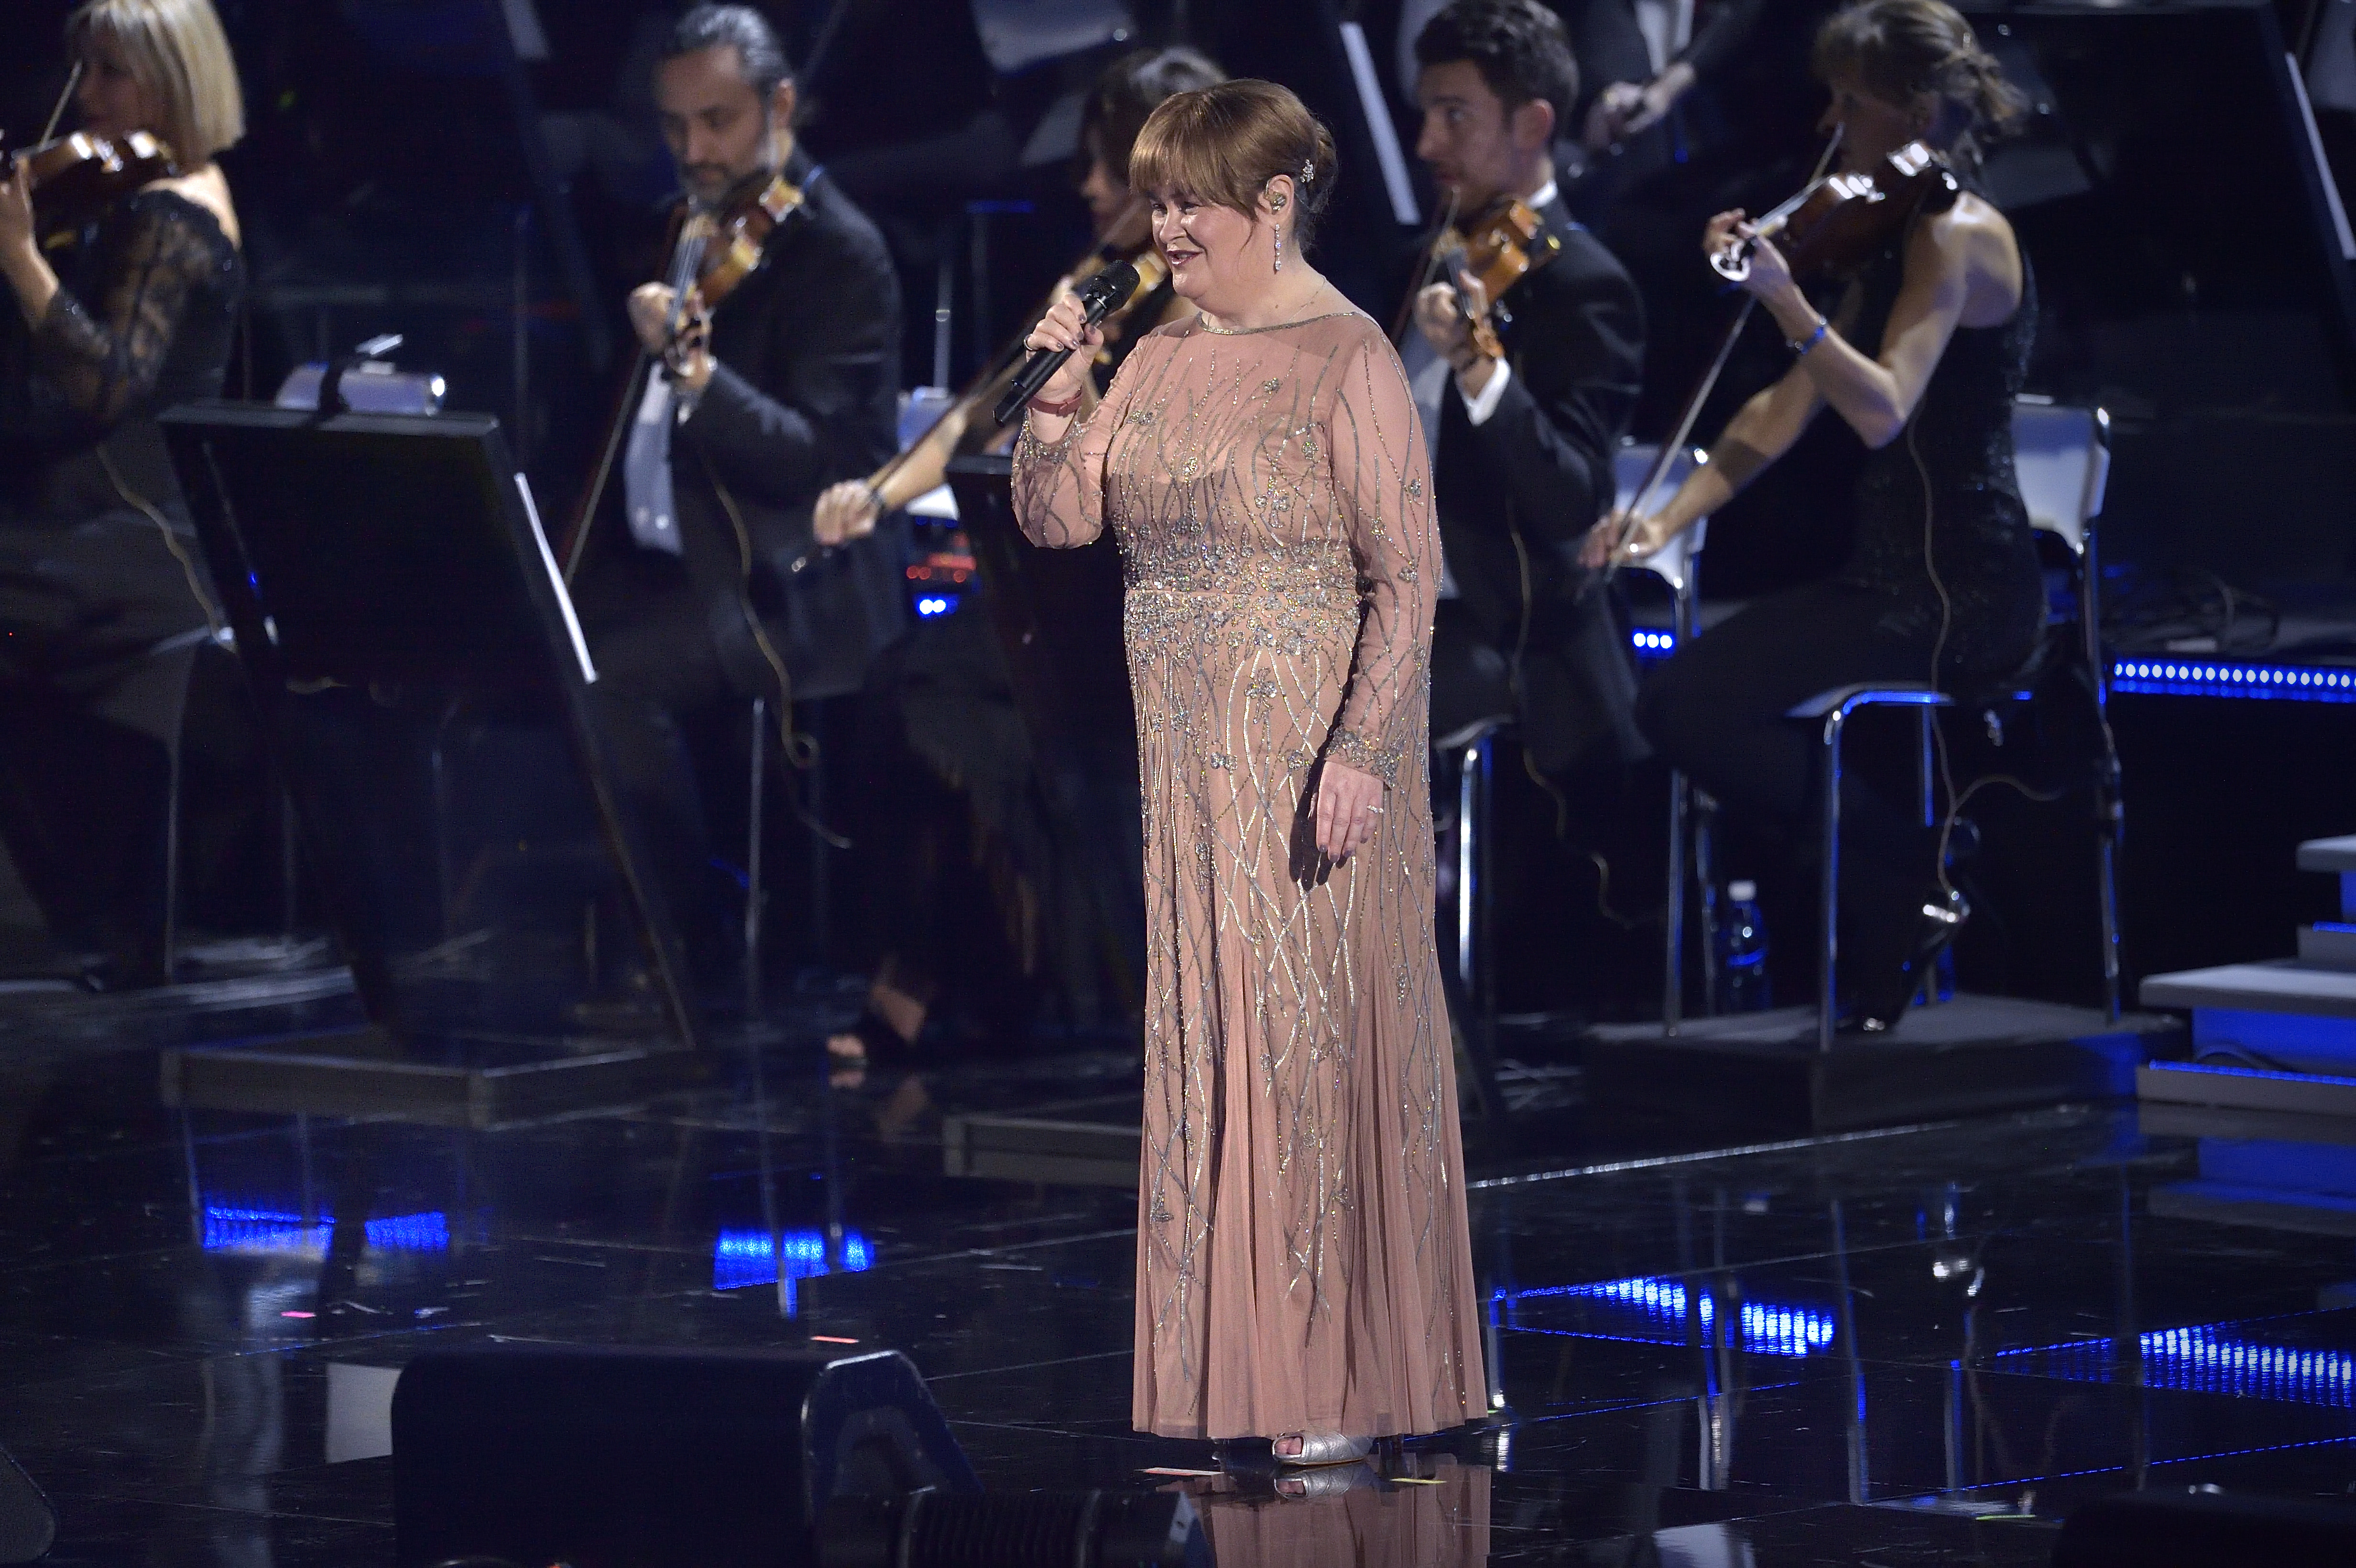
<instances>
[{"instance_id":1,"label":"blonde woman violinist in black lace dress at far left edge","mask_svg":"<svg viewBox=\"0 0 2356 1568\"><path fill-rule=\"evenodd\" d=\"M148 132L179 174L64 245L21 170L0 184L0 833L82 977L137 984L163 979L165 749L212 636L155 414L221 391L245 266L214 153L245 115L207 0L92 0L66 35L80 127Z\"/></svg>"}]
</instances>

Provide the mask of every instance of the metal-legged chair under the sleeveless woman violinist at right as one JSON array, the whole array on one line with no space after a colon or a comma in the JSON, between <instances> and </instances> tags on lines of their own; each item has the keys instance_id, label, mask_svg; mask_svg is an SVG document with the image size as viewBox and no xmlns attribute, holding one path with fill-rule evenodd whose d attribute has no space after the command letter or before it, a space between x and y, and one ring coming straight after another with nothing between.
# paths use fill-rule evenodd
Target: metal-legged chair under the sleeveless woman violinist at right
<instances>
[{"instance_id":1,"label":"metal-legged chair under the sleeveless woman violinist at right","mask_svg":"<svg viewBox=\"0 0 2356 1568\"><path fill-rule=\"evenodd\" d=\"M2109 671L2102 664L2102 572L2094 556L2094 518L2102 513L2102 492L2111 473L2109 447L2111 419L2099 407L2066 407L2050 398L2019 398L2012 410L2012 440L2021 501L2029 520L2040 532L2054 534L2076 563L2078 600L2078 652L2087 659L2094 683L2094 702L2109 692ZM2014 702L2026 695L2012 680L1993 692L1972 692L1967 702L1941 692L1927 680L1871 680L1816 692L1791 718L1816 723L1824 737L1824 873L1821 918L1816 925L1816 1050L1833 1048L1835 1026L1835 977L1838 977L1838 921L1840 921L1840 739L1847 720L1864 709L1915 709L1920 723L1918 777L1922 791L1922 822L1939 822L1934 798L1934 735L1937 709L1991 706ZM2102 902L2102 965L2109 1017L2118 1017L2118 888L2113 881L2116 850L2116 803L2104 805L2104 833L2099 845L2099 902ZM1925 986L1937 998L1937 984Z\"/></svg>"}]
</instances>

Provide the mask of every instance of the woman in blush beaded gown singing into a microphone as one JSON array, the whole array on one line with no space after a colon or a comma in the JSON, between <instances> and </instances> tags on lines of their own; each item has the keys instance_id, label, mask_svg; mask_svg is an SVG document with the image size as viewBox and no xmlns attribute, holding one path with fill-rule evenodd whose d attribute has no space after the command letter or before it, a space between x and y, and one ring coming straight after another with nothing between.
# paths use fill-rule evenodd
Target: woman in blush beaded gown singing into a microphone
<instances>
[{"instance_id":1,"label":"woman in blush beaded gown singing into a microphone","mask_svg":"<svg viewBox=\"0 0 2356 1568\"><path fill-rule=\"evenodd\" d=\"M1145 805L1136 1424L1286 1464L1487 1415L1432 946L1432 527L1383 330L1303 257L1333 141L1272 82L1131 153L1197 313L1074 421L1098 332L1032 348L1015 511L1121 542ZM1270 1450L1263 1450L1263 1455Z\"/></svg>"}]
</instances>

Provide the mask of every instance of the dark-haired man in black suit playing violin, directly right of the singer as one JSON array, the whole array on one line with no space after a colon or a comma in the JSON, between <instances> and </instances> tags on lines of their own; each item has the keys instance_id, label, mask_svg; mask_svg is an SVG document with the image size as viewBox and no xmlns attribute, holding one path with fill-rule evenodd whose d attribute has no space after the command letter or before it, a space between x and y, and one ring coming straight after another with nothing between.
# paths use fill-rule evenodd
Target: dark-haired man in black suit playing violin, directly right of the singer
<instances>
[{"instance_id":1,"label":"dark-haired man in black suit playing violin, directly right of the singer","mask_svg":"<svg viewBox=\"0 0 2356 1568\"><path fill-rule=\"evenodd\" d=\"M1456 226L1505 202L1557 242L1501 301L1470 275L1414 297L1409 372L1437 431L1432 492L1449 582L1432 638L1432 737L1517 713L1529 763L1555 784L1607 782L1642 751L1635 662L1604 593L1581 596L1581 530L1614 501L1612 457L1635 407L1644 318L1619 261L1571 221L1548 146L1579 71L1538 0L1456 0L1416 38L1430 167ZM1501 358L1468 315L1494 313ZM1423 360L1418 370L1416 360ZM1437 417L1432 417L1437 412Z\"/></svg>"}]
</instances>

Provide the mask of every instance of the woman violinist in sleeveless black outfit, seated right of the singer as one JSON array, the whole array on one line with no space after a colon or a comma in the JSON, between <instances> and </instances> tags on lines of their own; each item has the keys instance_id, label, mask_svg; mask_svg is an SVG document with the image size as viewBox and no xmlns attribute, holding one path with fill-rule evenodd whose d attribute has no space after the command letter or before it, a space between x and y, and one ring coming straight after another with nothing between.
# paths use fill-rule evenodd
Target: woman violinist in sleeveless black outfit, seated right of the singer
<instances>
[{"instance_id":1,"label":"woman violinist in sleeveless black outfit, seated right of the singer","mask_svg":"<svg viewBox=\"0 0 2356 1568\"><path fill-rule=\"evenodd\" d=\"M1647 683L1637 725L1722 803L1805 836L1812 732L1786 713L1835 685L1932 680L1977 687L2021 669L2045 622L2029 513L2012 473L2012 400L2036 337L2036 280L2012 224L1977 193L1977 139L2019 94L1970 24L1939 0L1864 0L1816 35L1840 165L1875 170L1911 141L1948 153L1963 195L1920 212L1866 264L1831 320L1769 240L1743 287L1791 341L1793 367L1727 421L1710 461L1635 523L1628 558L1725 506L1831 407L1868 447L1857 546L1828 582L1765 598L1694 638ZM1710 254L1751 240L1741 212L1710 221ZM1588 565L1628 527L1595 525ZM1922 965L1970 913L1941 869L1944 831L1842 782L1840 911L1849 1029L1906 1012Z\"/></svg>"}]
</instances>

